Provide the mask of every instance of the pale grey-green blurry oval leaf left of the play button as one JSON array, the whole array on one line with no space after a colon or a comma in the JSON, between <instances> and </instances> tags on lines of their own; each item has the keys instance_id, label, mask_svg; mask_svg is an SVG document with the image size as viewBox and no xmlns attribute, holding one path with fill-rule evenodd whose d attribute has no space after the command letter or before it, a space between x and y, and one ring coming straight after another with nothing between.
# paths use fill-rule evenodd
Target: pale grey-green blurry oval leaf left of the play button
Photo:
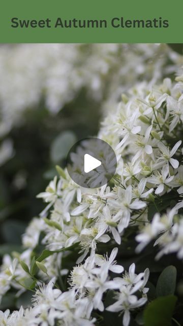
<instances>
[{"instance_id":1,"label":"pale grey-green blurry oval leaf left of the play button","mask_svg":"<svg viewBox=\"0 0 183 326\"><path fill-rule=\"evenodd\" d=\"M68 130L60 133L53 141L50 149L51 160L55 163L66 158L68 151L75 144L75 134Z\"/></svg>"}]
</instances>

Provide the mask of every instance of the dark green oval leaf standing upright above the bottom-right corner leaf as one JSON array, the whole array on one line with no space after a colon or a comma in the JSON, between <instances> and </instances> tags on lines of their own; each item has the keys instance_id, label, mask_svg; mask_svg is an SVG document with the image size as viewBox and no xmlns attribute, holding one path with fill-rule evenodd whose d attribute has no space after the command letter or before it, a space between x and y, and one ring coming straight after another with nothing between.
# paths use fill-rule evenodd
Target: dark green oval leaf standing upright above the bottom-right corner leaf
<instances>
[{"instance_id":1,"label":"dark green oval leaf standing upright above the bottom-right corner leaf","mask_svg":"<svg viewBox=\"0 0 183 326\"><path fill-rule=\"evenodd\" d=\"M162 271L157 282L157 296L174 294L176 286L176 274L176 268L172 265L167 266Z\"/></svg>"}]
</instances>

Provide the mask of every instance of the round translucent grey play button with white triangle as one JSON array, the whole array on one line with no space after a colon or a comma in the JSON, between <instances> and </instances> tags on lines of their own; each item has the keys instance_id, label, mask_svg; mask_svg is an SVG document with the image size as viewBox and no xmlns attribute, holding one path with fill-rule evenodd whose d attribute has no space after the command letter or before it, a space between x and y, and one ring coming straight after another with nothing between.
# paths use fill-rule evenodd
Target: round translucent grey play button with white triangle
<instances>
[{"instance_id":1,"label":"round translucent grey play button with white triangle","mask_svg":"<svg viewBox=\"0 0 183 326\"><path fill-rule=\"evenodd\" d=\"M117 166L112 147L99 138L85 138L67 155L67 170L73 181L85 188L98 188L110 181Z\"/></svg>"}]
</instances>

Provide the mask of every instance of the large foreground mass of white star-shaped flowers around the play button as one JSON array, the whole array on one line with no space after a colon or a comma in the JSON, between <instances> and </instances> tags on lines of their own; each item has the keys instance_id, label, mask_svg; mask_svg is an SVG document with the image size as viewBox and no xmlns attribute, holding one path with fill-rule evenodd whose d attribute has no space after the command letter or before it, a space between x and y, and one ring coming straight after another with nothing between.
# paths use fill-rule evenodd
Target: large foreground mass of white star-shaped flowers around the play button
<instances>
[{"instance_id":1,"label":"large foreground mass of white star-shaped flowers around the play button","mask_svg":"<svg viewBox=\"0 0 183 326\"><path fill-rule=\"evenodd\" d=\"M1 268L1 297L29 289L32 306L1 312L0 325L92 326L117 313L128 326L146 306L148 265L125 270L120 246L133 234L137 253L155 241L157 259L183 258L182 112L181 73L176 82L138 83L98 133L117 156L109 184L82 188L57 167L38 195L46 207L23 235L24 252L6 255Z\"/></svg>"}]
</instances>

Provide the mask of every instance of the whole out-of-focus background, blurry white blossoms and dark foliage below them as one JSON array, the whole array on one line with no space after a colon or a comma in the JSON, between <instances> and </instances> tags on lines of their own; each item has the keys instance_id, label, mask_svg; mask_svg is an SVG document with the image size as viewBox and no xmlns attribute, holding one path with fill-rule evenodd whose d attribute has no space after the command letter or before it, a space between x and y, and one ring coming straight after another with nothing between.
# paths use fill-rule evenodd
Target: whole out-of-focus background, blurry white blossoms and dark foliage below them
<instances>
[{"instance_id":1,"label":"whole out-of-focus background, blurry white blossoms and dark foliage below them","mask_svg":"<svg viewBox=\"0 0 183 326\"><path fill-rule=\"evenodd\" d=\"M70 48L66 44L60 45L61 52L59 45L56 50L53 45L47 45L52 48L49 60L39 59L39 67L40 61L44 62L41 66L44 73L39 84L37 74L42 72L34 60L44 56L44 50L48 52L45 46L26 44L26 48L23 45L0 47L0 72L5 75L5 78L2 75L0 86L0 137L2 144L7 139L12 144L9 150L7 143L4 150L0 149L1 256L21 245L21 234L28 221L44 208L45 205L36 199L36 195L45 189L55 175L54 166L65 166L67 152L77 140L97 134L101 118L106 111L112 112L120 94L135 86L137 80L146 80L150 86L162 75L174 76L177 67L183 63L182 56L178 54L182 51L181 45L174 44L170 45L173 50L165 44L90 44L72 45ZM69 59L69 65L67 53L62 55L65 48L70 52L76 51ZM51 51L56 52L55 56L52 57L54 53ZM52 61L56 62L53 72L45 76ZM76 76L77 85L73 86ZM47 87L41 84L44 78L47 78ZM39 96L36 93L37 99L34 100L33 92L31 101L27 95L27 104L26 87L34 89L34 83ZM55 89L56 100L53 96ZM56 108L52 106L51 99L56 103ZM21 110L18 110L20 106Z\"/></svg>"}]
</instances>

